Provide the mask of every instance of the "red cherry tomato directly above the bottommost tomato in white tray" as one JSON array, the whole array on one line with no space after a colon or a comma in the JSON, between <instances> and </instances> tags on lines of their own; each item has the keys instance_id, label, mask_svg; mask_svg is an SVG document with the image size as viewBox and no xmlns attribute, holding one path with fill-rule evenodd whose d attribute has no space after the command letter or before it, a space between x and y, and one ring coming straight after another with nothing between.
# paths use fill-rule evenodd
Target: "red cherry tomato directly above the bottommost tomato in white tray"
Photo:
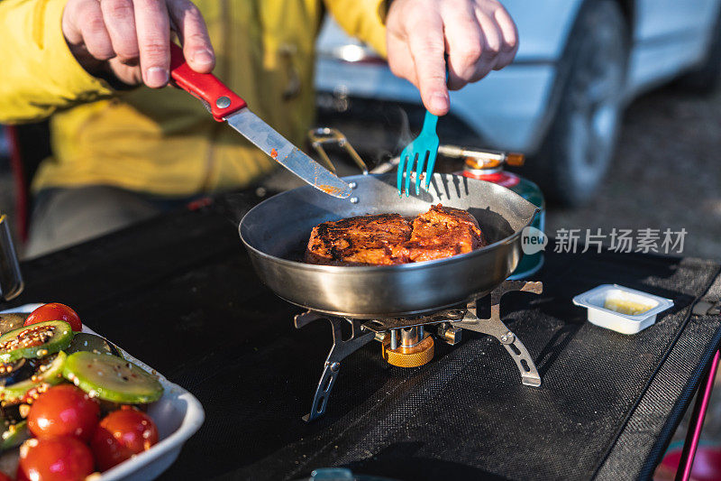
<instances>
[{"instance_id":1,"label":"red cherry tomato directly above the bottommost tomato in white tray","mask_svg":"<svg viewBox=\"0 0 721 481\"><path fill-rule=\"evenodd\" d=\"M28 429L38 438L75 436L87 441L96 430L100 406L72 384L51 387L32 402Z\"/></svg>"}]
</instances>

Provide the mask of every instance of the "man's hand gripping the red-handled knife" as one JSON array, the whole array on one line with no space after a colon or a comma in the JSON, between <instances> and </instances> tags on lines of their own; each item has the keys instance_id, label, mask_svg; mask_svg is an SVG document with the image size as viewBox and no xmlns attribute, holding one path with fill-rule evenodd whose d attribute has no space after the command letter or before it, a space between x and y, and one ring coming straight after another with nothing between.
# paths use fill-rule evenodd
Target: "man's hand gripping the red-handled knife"
<instances>
[{"instance_id":1,"label":"man's hand gripping the red-handled knife","mask_svg":"<svg viewBox=\"0 0 721 481\"><path fill-rule=\"evenodd\" d=\"M171 27L190 67L210 72L213 46L202 15L188 0L69 0L62 14L65 41L84 69L151 88L169 80Z\"/></svg>"}]
</instances>

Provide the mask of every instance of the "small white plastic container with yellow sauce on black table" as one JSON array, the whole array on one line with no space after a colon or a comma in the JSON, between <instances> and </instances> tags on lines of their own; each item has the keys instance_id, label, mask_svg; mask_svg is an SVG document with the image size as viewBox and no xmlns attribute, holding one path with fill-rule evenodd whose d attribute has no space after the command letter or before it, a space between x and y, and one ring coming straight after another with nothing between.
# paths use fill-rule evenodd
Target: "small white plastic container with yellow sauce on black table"
<instances>
[{"instance_id":1,"label":"small white plastic container with yellow sauce on black table","mask_svg":"<svg viewBox=\"0 0 721 481\"><path fill-rule=\"evenodd\" d=\"M671 299L636 291L618 284L602 284L573 298L577 306L589 310L589 322L601 328L607 328L621 334L636 334L656 322L659 312L673 306ZM614 310L637 310L636 313L624 313Z\"/></svg>"}]
</instances>

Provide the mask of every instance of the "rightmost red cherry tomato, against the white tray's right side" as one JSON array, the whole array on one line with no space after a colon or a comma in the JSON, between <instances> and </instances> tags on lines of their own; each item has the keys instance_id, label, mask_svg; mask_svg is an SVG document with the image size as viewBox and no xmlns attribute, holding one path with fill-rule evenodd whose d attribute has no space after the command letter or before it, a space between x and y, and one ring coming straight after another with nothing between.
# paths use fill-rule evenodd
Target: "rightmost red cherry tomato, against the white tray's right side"
<instances>
[{"instance_id":1,"label":"rightmost red cherry tomato, against the white tray's right side","mask_svg":"<svg viewBox=\"0 0 721 481\"><path fill-rule=\"evenodd\" d=\"M90 449L101 471L150 449L158 442L158 428L151 417L134 409L114 411L100 421Z\"/></svg>"}]
</instances>

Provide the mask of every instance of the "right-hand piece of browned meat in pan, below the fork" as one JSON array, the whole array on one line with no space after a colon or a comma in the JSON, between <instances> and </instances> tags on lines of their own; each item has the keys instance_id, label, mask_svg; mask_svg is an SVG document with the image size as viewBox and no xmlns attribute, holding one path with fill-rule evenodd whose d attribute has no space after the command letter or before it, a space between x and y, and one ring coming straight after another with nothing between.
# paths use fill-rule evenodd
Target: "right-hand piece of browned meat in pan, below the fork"
<instances>
[{"instance_id":1,"label":"right-hand piece of browned meat in pan, below the fork","mask_svg":"<svg viewBox=\"0 0 721 481\"><path fill-rule=\"evenodd\" d=\"M403 246L410 262L420 263L469 253L486 244L475 217L441 204L413 219L413 233Z\"/></svg>"}]
</instances>

